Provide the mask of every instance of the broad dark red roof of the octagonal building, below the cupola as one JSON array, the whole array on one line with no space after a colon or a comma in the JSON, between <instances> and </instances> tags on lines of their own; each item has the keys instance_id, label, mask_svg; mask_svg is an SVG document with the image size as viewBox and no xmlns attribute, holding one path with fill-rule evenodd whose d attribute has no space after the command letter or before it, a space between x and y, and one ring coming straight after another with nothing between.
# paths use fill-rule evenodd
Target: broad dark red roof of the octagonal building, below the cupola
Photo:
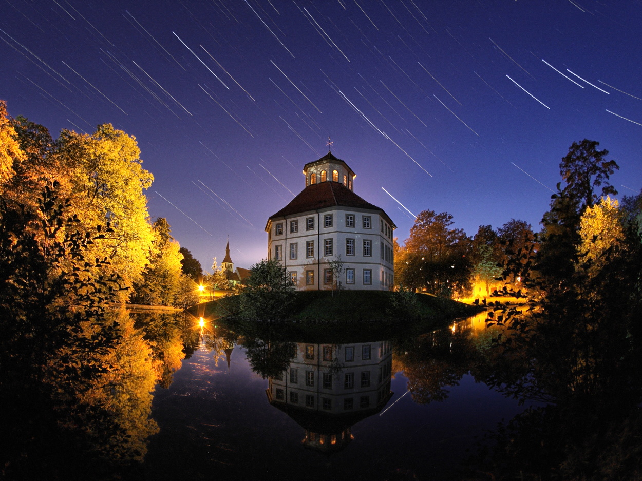
<instances>
[{"instance_id":1,"label":"broad dark red roof of the octagonal building, below the cupola","mask_svg":"<svg viewBox=\"0 0 642 481\"><path fill-rule=\"evenodd\" d=\"M276 217L286 217L287 215L300 214L302 212L309 212L310 210L335 206L379 210L387 217L390 224L396 227L392 219L388 217L388 214L386 214L381 207L377 207L361 199L357 194L352 192L352 190L339 182L321 182L308 185L308 187L301 190L299 195L293 198L286 207L270 215L268 221Z\"/></svg>"}]
</instances>

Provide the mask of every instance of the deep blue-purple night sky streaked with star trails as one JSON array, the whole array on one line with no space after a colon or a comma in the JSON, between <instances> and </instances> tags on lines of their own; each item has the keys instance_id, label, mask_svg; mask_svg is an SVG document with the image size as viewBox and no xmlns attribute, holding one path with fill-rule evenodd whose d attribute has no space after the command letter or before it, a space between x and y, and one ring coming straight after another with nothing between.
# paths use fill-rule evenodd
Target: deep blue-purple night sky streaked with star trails
<instances>
[{"instance_id":1,"label":"deep blue-purple night sky streaked with star trails","mask_svg":"<svg viewBox=\"0 0 642 481\"><path fill-rule=\"evenodd\" d=\"M152 220L205 269L227 235L250 267L328 138L401 242L413 217L383 189L469 235L539 230L585 138L637 194L641 25L639 0L6 0L0 98L54 137L134 135Z\"/></svg>"}]
</instances>

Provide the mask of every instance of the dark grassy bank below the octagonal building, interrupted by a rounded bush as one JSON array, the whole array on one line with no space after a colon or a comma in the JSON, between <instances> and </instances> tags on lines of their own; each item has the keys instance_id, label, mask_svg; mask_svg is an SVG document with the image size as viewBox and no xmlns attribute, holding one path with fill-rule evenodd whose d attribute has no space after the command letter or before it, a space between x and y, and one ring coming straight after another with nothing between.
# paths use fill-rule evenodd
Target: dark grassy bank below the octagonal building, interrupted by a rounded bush
<instances>
[{"instance_id":1,"label":"dark grassy bank below the octagonal building, interrupted by a rounded bush","mask_svg":"<svg viewBox=\"0 0 642 481\"><path fill-rule=\"evenodd\" d=\"M329 291L297 291L288 321L295 323L392 321L410 319L453 319L472 316L477 308L429 294L415 294L416 304L406 309L395 303L395 292L343 291L332 297ZM216 318L238 314L238 296L229 296L191 308L198 317Z\"/></svg>"}]
</instances>

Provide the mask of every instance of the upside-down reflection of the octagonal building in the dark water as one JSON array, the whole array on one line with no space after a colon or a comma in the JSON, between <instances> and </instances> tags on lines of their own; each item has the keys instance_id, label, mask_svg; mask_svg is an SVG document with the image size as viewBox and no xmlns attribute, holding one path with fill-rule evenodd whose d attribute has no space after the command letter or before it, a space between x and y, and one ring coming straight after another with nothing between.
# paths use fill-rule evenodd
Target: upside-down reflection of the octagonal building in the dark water
<instances>
[{"instance_id":1,"label":"upside-down reflection of the octagonal building in the dark water","mask_svg":"<svg viewBox=\"0 0 642 481\"><path fill-rule=\"evenodd\" d=\"M352 426L377 414L392 394L392 344L297 343L297 355L279 376L269 378L270 404L305 430L309 449L326 453L349 444Z\"/></svg>"}]
</instances>

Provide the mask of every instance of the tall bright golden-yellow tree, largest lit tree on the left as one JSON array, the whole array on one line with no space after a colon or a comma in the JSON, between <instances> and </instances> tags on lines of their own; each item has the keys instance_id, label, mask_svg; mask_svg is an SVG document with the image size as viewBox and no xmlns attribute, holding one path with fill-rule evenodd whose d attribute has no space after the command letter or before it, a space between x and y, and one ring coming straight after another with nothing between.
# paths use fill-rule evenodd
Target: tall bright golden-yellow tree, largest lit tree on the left
<instances>
[{"instance_id":1,"label":"tall bright golden-yellow tree, largest lit tree on the left","mask_svg":"<svg viewBox=\"0 0 642 481\"><path fill-rule=\"evenodd\" d=\"M71 205L85 228L112 223L114 232L92 246L94 255L109 258L127 285L140 281L153 241L143 190L153 176L141 167L135 138L110 124L91 136L63 130L55 155L69 173Z\"/></svg>"}]
</instances>

